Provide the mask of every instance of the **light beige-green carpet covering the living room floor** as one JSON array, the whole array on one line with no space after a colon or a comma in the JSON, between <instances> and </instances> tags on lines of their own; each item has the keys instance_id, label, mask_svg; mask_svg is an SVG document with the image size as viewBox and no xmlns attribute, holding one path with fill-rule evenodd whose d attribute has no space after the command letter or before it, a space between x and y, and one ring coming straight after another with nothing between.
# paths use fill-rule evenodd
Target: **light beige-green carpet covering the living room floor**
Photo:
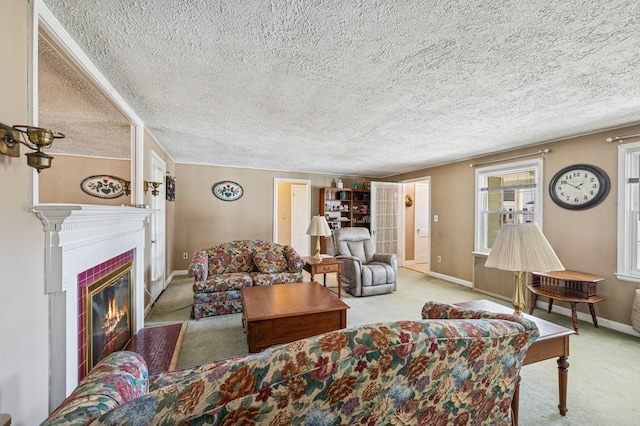
<instances>
[{"instance_id":1,"label":"light beige-green carpet covering the living room floor","mask_svg":"<svg viewBox=\"0 0 640 426\"><path fill-rule=\"evenodd\" d=\"M456 303L494 299L472 289L423 273L399 268L398 290L379 296L343 300L347 326L420 318L424 302ZM305 279L309 275L305 273ZM322 278L317 277L321 282ZM160 296L146 324L188 321L177 368L188 368L248 352L242 314L190 320L193 279L176 277ZM327 286L335 287L335 274L327 275ZM335 288L332 288L335 291ZM571 318L536 309L534 315L572 328ZM520 425L636 425L640 419L640 339L610 329L580 322L580 335L570 339L569 384L565 416L558 413L556 359L525 366L521 371Z\"/></svg>"}]
</instances>

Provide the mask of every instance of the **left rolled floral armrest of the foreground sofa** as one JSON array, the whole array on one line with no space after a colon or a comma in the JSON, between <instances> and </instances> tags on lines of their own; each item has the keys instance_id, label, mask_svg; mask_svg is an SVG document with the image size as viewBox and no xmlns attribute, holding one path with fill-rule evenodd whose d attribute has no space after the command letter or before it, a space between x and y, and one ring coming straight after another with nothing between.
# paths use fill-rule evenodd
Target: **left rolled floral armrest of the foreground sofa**
<instances>
[{"instance_id":1,"label":"left rolled floral armrest of the foreground sofa","mask_svg":"<svg viewBox=\"0 0 640 426\"><path fill-rule=\"evenodd\" d=\"M101 360L41 426L86 425L147 393L149 371L135 352L118 351Z\"/></svg>"}]
</instances>

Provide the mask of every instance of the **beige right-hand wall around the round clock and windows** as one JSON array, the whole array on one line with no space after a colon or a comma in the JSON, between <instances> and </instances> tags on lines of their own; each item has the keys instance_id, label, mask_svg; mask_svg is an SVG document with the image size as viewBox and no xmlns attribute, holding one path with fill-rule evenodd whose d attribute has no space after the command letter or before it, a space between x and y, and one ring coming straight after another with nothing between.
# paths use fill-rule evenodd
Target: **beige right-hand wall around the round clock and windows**
<instances>
[{"instance_id":1,"label":"beige right-hand wall around the round clock and windows","mask_svg":"<svg viewBox=\"0 0 640 426\"><path fill-rule=\"evenodd\" d=\"M639 132L640 126L628 127L473 160L474 163L497 160L545 147L552 150L544 156L543 231L565 268L606 278L598 285L598 294L605 301L596 305L596 312L599 318L622 324L631 323L631 305L637 284L620 281L614 275L617 251L618 151L615 144L608 144L605 139ZM439 216L439 221L431 224L431 270L466 281L472 281L474 242L475 169L469 167L470 162L461 161L418 170L389 179L402 181L422 176L431 177L431 217ZM549 197L548 191L549 182L558 170L577 163L596 165L605 170L611 180L611 191L607 198L600 205L584 211L558 207ZM436 256L442 256L441 263L434 262ZM579 304L578 309L588 312L585 304Z\"/></svg>"}]
</instances>

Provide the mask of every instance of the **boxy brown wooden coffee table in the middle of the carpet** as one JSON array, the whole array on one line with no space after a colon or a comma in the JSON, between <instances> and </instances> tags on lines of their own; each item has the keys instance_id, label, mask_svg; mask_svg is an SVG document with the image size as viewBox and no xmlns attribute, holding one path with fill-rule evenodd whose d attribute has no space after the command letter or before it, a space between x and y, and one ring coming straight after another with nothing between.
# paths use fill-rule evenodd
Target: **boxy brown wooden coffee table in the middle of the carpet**
<instances>
[{"instance_id":1,"label":"boxy brown wooden coffee table in the middle of the carpet","mask_svg":"<svg viewBox=\"0 0 640 426\"><path fill-rule=\"evenodd\" d=\"M347 326L349 306L319 283L242 287L249 352Z\"/></svg>"}]
</instances>

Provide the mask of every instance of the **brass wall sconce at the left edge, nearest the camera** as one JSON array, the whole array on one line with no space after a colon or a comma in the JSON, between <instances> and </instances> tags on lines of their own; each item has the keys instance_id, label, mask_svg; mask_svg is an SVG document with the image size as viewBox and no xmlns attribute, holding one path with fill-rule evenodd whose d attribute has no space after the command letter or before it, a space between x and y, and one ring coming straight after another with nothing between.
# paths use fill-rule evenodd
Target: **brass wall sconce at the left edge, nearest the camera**
<instances>
[{"instance_id":1,"label":"brass wall sconce at the left edge, nearest the camera","mask_svg":"<svg viewBox=\"0 0 640 426\"><path fill-rule=\"evenodd\" d=\"M0 154L20 157L19 144L22 144L34 151L25 154L27 164L40 173L40 170L51 167L53 160L53 157L45 154L43 150L50 148L55 139L62 138L64 138L64 134L42 127L22 125L9 127L0 123Z\"/></svg>"}]
</instances>

